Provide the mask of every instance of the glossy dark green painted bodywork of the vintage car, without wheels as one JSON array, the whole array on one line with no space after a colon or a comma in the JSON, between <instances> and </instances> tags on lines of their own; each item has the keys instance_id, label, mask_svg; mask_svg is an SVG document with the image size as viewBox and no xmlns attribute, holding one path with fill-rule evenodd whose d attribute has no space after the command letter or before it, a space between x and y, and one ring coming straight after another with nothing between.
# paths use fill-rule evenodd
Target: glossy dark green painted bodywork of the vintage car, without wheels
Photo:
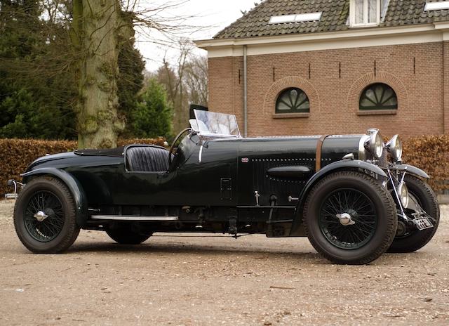
<instances>
[{"instance_id":1,"label":"glossy dark green painted bodywork of the vintage car, without wheels","mask_svg":"<svg viewBox=\"0 0 449 326\"><path fill-rule=\"evenodd\" d=\"M348 161L341 160L348 153L357 158L360 138L354 135L326 138L321 171L344 167ZM76 184L71 191L79 197L79 207L84 210L79 220L82 227L86 226L82 221L86 219L85 207L100 209L102 214L130 214L131 211L142 215L150 208L159 209L161 214L164 211L180 214L181 207L203 207L212 208L205 219L213 221L266 222L271 211L266 207L273 204L274 198L274 204L280 207L274 209L272 220L290 221L291 226L291 221L297 219L296 207L307 195L305 190L310 188L310 181L323 174L315 174L318 140L316 136L210 139L203 142L199 162L199 138L190 135L180 143L169 171L130 172L126 170L125 157L120 151L109 155L86 151L41 157L29 166L24 177L26 182L27 178L38 174L69 176L68 181L62 180ZM124 152L126 155L126 148ZM328 164L337 161L341 163L326 169ZM373 164L363 164L372 171L380 170ZM269 175L267 171L274 167L304 167L309 173L295 178ZM77 191L81 195L76 194ZM255 191L260 195L261 207L255 207ZM300 200L290 202L289 196ZM180 214L180 220L189 219L198 221L199 217Z\"/></svg>"}]
</instances>

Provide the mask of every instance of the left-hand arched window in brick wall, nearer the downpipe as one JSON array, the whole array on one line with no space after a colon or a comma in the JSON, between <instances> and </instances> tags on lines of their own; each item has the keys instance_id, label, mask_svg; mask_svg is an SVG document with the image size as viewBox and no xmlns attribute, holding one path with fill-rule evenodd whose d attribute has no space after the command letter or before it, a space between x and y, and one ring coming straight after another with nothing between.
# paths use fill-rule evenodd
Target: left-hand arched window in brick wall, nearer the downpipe
<instances>
[{"instance_id":1,"label":"left-hand arched window in brick wall, nearer the downpipe","mask_svg":"<svg viewBox=\"0 0 449 326\"><path fill-rule=\"evenodd\" d=\"M276 100L276 113L302 113L309 110L309 98L302 89L284 89Z\"/></svg>"}]
</instances>

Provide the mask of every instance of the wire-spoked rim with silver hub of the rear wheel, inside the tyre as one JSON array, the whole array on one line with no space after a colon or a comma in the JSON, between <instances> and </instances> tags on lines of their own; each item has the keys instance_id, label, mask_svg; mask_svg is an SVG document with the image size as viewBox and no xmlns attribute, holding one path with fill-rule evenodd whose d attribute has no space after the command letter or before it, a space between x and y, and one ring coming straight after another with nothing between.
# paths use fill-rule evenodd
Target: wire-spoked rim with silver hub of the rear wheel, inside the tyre
<instances>
[{"instance_id":1,"label":"wire-spoked rim with silver hub of the rear wheel, inside the tyre","mask_svg":"<svg viewBox=\"0 0 449 326\"><path fill-rule=\"evenodd\" d=\"M64 208L59 198L50 191L34 193L25 209L25 228L34 240L49 242L64 226Z\"/></svg>"}]
</instances>

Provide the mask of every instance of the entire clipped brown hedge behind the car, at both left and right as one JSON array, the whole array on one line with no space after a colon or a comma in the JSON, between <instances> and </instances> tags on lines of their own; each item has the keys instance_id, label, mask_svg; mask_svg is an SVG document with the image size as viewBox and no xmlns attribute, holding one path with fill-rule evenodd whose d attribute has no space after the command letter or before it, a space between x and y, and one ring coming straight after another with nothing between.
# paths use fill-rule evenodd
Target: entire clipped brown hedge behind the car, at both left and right
<instances>
[{"instance_id":1,"label":"entire clipped brown hedge behind the car, at both left and right","mask_svg":"<svg viewBox=\"0 0 449 326\"><path fill-rule=\"evenodd\" d=\"M119 145L131 143L163 145L163 138L120 140ZM429 181L435 191L449 189L449 135L420 136L404 141L403 162L420 167L431 176ZM8 193L6 181L20 180L20 174L37 157L46 154L72 151L75 141L35 141L0 139L0 195Z\"/></svg>"}]
</instances>

